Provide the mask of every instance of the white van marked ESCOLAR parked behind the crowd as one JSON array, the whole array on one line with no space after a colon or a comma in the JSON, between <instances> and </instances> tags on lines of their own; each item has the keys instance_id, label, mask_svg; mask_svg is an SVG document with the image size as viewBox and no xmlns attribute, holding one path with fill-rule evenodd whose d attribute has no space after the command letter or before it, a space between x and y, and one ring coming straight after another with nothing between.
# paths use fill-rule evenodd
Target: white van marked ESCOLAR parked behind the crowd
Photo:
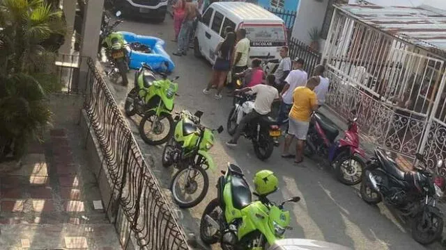
<instances>
[{"instance_id":1,"label":"white van marked ESCOLAR parked behind the crowd","mask_svg":"<svg viewBox=\"0 0 446 250\"><path fill-rule=\"evenodd\" d=\"M235 31L245 28L251 41L251 59L279 59L279 50L286 45L286 28L280 17L254 3L223 1L212 3L203 13L195 33L195 56L204 56L213 64L215 48L223 39L226 26Z\"/></svg>"}]
</instances>

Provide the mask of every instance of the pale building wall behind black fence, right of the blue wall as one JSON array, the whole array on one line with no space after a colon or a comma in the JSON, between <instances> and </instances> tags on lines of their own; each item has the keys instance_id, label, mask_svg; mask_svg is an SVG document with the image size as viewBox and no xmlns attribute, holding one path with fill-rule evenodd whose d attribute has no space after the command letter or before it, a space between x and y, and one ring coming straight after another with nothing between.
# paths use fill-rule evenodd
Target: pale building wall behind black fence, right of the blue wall
<instances>
[{"instance_id":1,"label":"pale building wall behind black fence, right of the blue wall","mask_svg":"<svg viewBox=\"0 0 446 250\"><path fill-rule=\"evenodd\" d=\"M313 27L321 30L327 6L328 0L300 1L293 27L293 38L297 38L306 44L312 42L308 31ZM323 41L320 42L320 45L320 49L322 49Z\"/></svg>"}]
</instances>

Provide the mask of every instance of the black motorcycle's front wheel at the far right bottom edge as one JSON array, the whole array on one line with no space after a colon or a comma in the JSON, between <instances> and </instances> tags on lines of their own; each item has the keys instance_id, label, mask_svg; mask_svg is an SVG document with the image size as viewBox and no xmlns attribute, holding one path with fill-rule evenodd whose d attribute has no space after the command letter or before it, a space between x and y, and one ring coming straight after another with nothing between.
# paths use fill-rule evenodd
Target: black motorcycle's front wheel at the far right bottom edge
<instances>
[{"instance_id":1,"label":"black motorcycle's front wheel at the far right bottom edge","mask_svg":"<svg viewBox=\"0 0 446 250\"><path fill-rule=\"evenodd\" d=\"M430 213L429 218L436 219L437 228L436 231L433 231L430 235L427 235L426 237L423 237L424 233L429 232L423 232L423 231L430 231L431 228L422 228L424 226L423 222L423 213L418 214L415 216L412 222L412 238L423 245L431 244L434 241L438 240L441 237L441 234L443 233L443 218L438 217L434 213Z\"/></svg>"}]
</instances>

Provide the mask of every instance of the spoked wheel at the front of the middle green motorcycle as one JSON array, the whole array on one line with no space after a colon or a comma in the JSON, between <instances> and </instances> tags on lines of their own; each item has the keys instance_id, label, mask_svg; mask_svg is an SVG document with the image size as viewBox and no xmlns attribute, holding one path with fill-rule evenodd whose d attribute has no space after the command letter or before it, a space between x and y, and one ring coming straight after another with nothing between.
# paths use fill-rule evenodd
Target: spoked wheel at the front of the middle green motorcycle
<instances>
[{"instance_id":1,"label":"spoked wheel at the front of the middle green motorcycle","mask_svg":"<svg viewBox=\"0 0 446 250\"><path fill-rule=\"evenodd\" d=\"M189 178L189 171L193 171L195 174L199 174L201 176L203 176L203 190L201 190L201 193L199 194L199 196L196 199L192 199L191 201L183 201L180 199L180 196L176 190L176 184L178 183L180 177L183 174L187 174L187 178ZM197 189L198 188L198 183L197 181L193 180L191 182L187 181L188 185L192 185L191 189ZM197 187L194 187L193 185L197 185ZM192 167L191 169L188 167L185 167L183 169L179 169L176 174L174 175L174 177L172 178L171 181L171 185L170 185L170 190L172 192L172 195L174 197L174 201L175 203L180 207L180 208L192 208L194 206L197 206L198 203L200 203L204 197L206 197L206 194L208 193L208 188L209 188L209 177L208 174L206 173L206 170L203 169L203 167L201 166L196 166L196 167ZM187 190L183 190L184 192L187 192ZM197 192L197 190L194 190L194 192Z\"/></svg>"}]
</instances>

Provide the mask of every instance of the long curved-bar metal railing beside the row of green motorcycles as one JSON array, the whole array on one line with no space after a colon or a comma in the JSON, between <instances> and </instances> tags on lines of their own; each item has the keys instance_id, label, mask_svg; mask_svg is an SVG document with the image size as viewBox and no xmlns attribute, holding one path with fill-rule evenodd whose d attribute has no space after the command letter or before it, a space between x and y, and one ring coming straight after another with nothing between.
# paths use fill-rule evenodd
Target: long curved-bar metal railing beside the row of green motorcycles
<instances>
[{"instance_id":1,"label":"long curved-bar metal railing beside the row of green motorcycles","mask_svg":"<svg viewBox=\"0 0 446 250\"><path fill-rule=\"evenodd\" d=\"M112 211L118 215L119 211L129 225L125 230L128 233L120 237L123 248L127 249L130 239L134 239L141 249L188 249L185 234L90 58L88 67L84 108L102 153L102 167L113 187L107 214Z\"/></svg>"}]
</instances>

